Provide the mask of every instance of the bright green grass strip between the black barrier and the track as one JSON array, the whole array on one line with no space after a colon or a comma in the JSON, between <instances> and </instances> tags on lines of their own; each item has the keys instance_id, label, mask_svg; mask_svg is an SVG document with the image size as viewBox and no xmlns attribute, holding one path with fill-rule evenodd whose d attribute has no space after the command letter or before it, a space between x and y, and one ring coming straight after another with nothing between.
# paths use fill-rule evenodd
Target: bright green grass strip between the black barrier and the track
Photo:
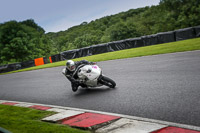
<instances>
[{"instance_id":1,"label":"bright green grass strip between the black barrier and the track","mask_svg":"<svg viewBox=\"0 0 200 133\"><path fill-rule=\"evenodd\" d=\"M93 56L86 56L86 57L74 59L74 61L85 59L85 60L89 60L93 62L99 62L99 61L124 59L124 58L132 58L132 57L140 57L140 56L148 56L148 55L192 51L192 50L200 50L200 38L183 40L183 41L178 41L178 42L171 42L171 43L164 43L164 44L159 44L159 45L151 45L151 46L145 46L145 47L139 47L139 48L132 48L132 49L115 51L115 52L108 52L108 53L103 53L103 54L98 54L98 55L93 55ZM45 64L42 66L31 67L31 68L22 69L18 71L12 71L8 73L64 66L65 63L66 61L60 61L56 63Z\"/></svg>"}]
</instances>

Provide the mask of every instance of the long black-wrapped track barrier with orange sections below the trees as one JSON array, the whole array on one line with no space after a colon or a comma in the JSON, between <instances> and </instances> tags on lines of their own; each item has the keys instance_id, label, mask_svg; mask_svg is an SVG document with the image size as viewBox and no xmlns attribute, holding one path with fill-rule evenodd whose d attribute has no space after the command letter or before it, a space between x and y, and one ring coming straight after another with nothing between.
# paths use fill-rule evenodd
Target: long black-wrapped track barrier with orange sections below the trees
<instances>
[{"instance_id":1,"label":"long black-wrapped track barrier with orange sections below the trees","mask_svg":"<svg viewBox=\"0 0 200 133\"><path fill-rule=\"evenodd\" d=\"M108 42L104 44L92 45L80 49L63 51L59 54L52 55L49 58L41 57L31 61L22 63L14 63L0 66L0 73L19 70L32 66L44 65L47 63L58 62L62 60L75 59L79 57L102 54L106 52L119 51L136 47L156 45L168 42L175 42L191 38L200 37L200 25L179 29L175 31L161 32L153 35L142 36L138 38L130 38L120 41Z\"/></svg>"}]
</instances>

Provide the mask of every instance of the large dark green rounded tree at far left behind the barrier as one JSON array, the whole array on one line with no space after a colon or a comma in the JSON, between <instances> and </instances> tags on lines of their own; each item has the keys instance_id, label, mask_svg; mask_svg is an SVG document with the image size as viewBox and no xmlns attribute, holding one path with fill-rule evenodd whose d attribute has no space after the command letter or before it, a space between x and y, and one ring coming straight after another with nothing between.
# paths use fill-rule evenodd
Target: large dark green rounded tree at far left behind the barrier
<instances>
[{"instance_id":1,"label":"large dark green rounded tree at far left behind the barrier","mask_svg":"<svg viewBox=\"0 0 200 133\"><path fill-rule=\"evenodd\" d=\"M23 62L48 56L51 44L43 28L34 20L0 24L1 64Z\"/></svg>"}]
</instances>

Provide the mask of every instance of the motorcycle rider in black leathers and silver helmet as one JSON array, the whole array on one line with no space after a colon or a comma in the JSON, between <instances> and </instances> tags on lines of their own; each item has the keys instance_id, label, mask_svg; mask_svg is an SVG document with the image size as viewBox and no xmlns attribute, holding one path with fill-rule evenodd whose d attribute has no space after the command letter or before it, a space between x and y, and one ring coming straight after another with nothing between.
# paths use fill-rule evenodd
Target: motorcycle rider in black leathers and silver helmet
<instances>
[{"instance_id":1,"label":"motorcycle rider in black leathers and silver helmet","mask_svg":"<svg viewBox=\"0 0 200 133\"><path fill-rule=\"evenodd\" d=\"M94 64L96 63L89 62L87 60L81 60L77 62L68 60L66 62L66 69L65 69L65 72L63 72L63 74L67 77L69 81L71 81L72 90L74 92L78 90L79 86L87 87L85 84L80 83L80 81L78 80L77 70L83 67L84 65L94 65Z\"/></svg>"}]
</instances>

